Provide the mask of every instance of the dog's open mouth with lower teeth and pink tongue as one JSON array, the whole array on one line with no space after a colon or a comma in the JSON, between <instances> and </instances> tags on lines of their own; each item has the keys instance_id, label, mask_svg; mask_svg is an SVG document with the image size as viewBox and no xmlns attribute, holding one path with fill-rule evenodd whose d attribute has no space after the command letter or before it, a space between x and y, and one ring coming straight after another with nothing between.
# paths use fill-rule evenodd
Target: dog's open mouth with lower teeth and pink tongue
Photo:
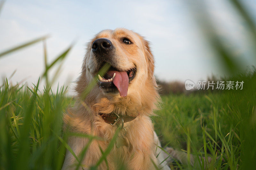
<instances>
[{"instance_id":1,"label":"dog's open mouth with lower teeth and pink tongue","mask_svg":"<svg viewBox=\"0 0 256 170\"><path fill-rule=\"evenodd\" d=\"M133 80L136 74L136 68L131 68L127 71L120 71L114 67L104 74L102 77L99 76L98 85L106 92L119 91L120 96L127 96L129 83Z\"/></svg>"}]
</instances>

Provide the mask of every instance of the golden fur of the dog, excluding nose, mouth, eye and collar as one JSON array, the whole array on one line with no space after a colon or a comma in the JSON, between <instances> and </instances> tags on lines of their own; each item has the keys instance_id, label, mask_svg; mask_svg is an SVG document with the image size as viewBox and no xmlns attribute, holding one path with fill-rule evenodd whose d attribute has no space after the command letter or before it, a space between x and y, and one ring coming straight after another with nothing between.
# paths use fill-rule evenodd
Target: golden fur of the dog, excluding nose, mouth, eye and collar
<instances>
[{"instance_id":1,"label":"golden fur of the dog, excluding nose, mouth, eye and collar","mask_svg":"<svg viewBox=\"0 0 256 170\"><path fill-rule=\"evenodd\" d=\"M121 38L127 37L133 43L124 44ZM121 97L118 94L106 94L96 85L89 94L83 98L82 94L90 81L96 75L98 66L92 53L92 42L98 38L107 38L115 46L115 55L111 65L127 70L136 66L137 72L129 83L128 95ZM154 58L150 51L148 41L138 33L127 29L104 30L98 33L87 46L82 72L76 85L76 104L64 114L65 127L69 131L90 134L104 138L104 141L93 140L84 159L83 167L95 165L101 157L100 148L104 151L117 126L111 126L103 121L98 113L115 112L120 115L138 116L134 120L124 123L127 134L124 136L127 145L117 148L114 146L107 156L109 169L117 169L122 165L131 170L155 169L152 161L159 164L156 156L156 139L154 139L153 124L149 116L157 107L159 95L154 77ZM70 137L68 145L75 154L84 149L89 139ZM76 159L67 151L62 169L74 169ZM99 169L107 169L103 161Z\"/></svg>"}]
</instances>

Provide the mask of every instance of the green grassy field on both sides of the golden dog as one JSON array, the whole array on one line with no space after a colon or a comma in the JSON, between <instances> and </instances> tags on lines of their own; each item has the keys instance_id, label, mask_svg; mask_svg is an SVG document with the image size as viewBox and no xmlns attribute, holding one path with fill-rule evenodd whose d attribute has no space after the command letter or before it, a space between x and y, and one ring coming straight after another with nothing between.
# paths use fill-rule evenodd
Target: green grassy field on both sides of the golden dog
<instances>
[{"instance_id":1,"label":"green grassy field on both sides of the golden dog","mask_svg":"<svg viewBox=\"0 0 256 170\"><path fill-rule=\"evenodd\" d=\"M245 81L243 90L162 96L159 116L152 117L162 146L192 153L196 162L194 167L173 162L174 169L255 167L256 74L235 79ZM0 169L60 169L66 149L70 150L68 135L94 138L64 134L62 112L73 99L63 87L53 93L48 86L39 91L38 85L39 81L33 88L10 86L5 80L1 86ZM201 163L197 157L212 161ZM83 154L76 158L81 160Z\"/></svg>"}]
</instances>

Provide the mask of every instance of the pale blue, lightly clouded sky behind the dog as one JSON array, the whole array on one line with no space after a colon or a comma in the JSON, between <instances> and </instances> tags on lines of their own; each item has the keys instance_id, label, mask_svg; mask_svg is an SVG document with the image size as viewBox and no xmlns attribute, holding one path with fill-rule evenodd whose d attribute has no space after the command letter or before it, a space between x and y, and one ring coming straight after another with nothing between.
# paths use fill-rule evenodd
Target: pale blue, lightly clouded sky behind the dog
<instances>
[{"instance_id":1,"label":"pale blue, lightly clouded sky behind the dog","mask_svg":"<svg viewBox=\"0 0 256 170\"><path fill-rule=\"evenodd\" d=\"M156 60L155 75L164 81L194 82L207 76L221 75L214 51L207 45L186 0L159 1L67 1L7 0L0 13L0 52L29 40L50 35L47 39L49 62L75 42L62 65L56 84L69 85L81 72L85 44L104 29L127 28L151 42ZM256 2L243 1L256 18ZM206 0L216 30L252 64L250 42L246 41L246 25L227 1ZM198 11L200 12L200 11ZM56 69L56 68L55 68ZM0 58L0 78L11 82L36 83L44 71L43 43L39 42ZM51 75L54 69L51 71Z\"/></svg>"}]
</instances>

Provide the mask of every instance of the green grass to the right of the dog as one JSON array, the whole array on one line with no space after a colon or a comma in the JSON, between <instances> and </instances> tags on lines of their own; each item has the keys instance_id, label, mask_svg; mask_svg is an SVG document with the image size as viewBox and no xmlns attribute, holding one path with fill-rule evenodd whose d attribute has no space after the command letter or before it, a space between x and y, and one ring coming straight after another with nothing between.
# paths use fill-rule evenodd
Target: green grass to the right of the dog
<instances>
[{"instance_id":1,"label":"green grass to the right of the dog","mask_svg":"<svg viewBox=\"0 0 256 170\"><path fill-rule=\"evenodd\" d=\"M196 169L255 167L256 73L232 79L245 80L244 89L163 96L152 118L163 146L212 158L203 164L196 159Z\"/></svg>"}]
</instances>

